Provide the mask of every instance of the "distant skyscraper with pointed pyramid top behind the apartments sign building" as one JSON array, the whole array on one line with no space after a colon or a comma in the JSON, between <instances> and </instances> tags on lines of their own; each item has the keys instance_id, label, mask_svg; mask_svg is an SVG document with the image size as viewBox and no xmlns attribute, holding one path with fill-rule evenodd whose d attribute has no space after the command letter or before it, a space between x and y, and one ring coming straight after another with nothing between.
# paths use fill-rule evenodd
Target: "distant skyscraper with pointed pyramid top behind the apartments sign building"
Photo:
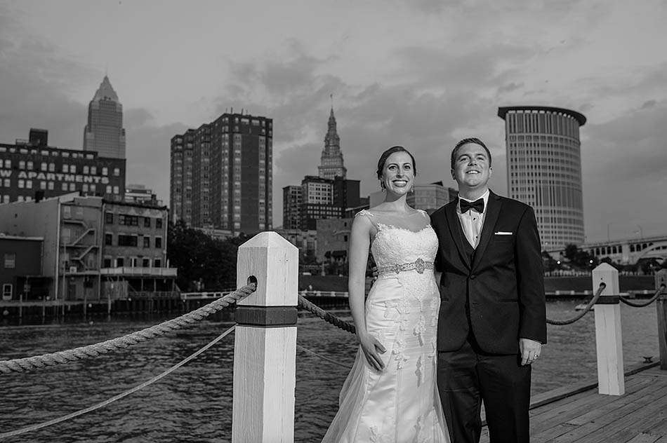
<instances>
[{"instance_id":1,"label":"distant skyscraper with pointed pyramid top behind the apartments sign building","mask_svg":"<svg viewBox=\"0 0 667 443\"><path fill-rule=\"evenodd\" d=\"M95 97L88 104L84 151L97 151L100 157L125 158L123 105L118 101L107 76L104 76Z\"/></svg>"}]
</instances>

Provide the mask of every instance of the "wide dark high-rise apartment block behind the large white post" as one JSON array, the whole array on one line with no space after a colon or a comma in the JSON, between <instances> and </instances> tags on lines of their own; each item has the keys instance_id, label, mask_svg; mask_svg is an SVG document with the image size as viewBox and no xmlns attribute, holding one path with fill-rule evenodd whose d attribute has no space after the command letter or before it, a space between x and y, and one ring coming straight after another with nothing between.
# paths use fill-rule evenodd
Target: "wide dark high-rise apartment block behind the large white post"
<instances>
[{"instance_id":1,"label":"wide dark high-rise apartment block behind the large white post","mask_svg":"<svg viewBox=\"0 0 667 443\"><path fill-rule=\"evenodd\" d=\"M273 120L223 114L171 139L173 221L232 234L272 229Z\"/></svg>"}]
</instances>

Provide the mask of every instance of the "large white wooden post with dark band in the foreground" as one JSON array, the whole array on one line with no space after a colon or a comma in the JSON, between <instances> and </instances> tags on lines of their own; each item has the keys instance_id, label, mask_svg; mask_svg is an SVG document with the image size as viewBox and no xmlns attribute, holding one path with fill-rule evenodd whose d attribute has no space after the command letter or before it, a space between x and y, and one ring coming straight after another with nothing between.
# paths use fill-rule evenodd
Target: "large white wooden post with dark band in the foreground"
<instances>
[{"instance_id":1,"label":"large white wooden post with dark band in the foreground","mask_svg":"<svg viewBox=\"0 0 667 443\"><path fill-rule=\"evenodd\" d=\"M235 317L232 443L292 443L298 249L275 232L239 247L237 287L257 290Z\"/></svg>"}]
</instances>

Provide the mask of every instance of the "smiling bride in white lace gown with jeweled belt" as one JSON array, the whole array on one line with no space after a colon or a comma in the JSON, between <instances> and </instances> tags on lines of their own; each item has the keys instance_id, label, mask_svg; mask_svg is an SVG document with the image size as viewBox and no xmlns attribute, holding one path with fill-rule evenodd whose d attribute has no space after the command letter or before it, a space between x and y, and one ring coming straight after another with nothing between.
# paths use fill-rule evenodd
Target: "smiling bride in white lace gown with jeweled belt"
<instances>
[{"instance_id":1,"label":"smiling bride in white lace gown with jeweled belt","mask_svg":"<svg viewBox=\"0 0 667 443\"><path fill-rule=\"evenodd\" d=\"M350 233L348 291L359 350L322 442L448 443L435 386L437 237L428 214L406 202L416 175L412 154L393 146L377 172L385 200L359 212ZM378 279L364 303L369 248Z\"/></svg>"}]
</instances>

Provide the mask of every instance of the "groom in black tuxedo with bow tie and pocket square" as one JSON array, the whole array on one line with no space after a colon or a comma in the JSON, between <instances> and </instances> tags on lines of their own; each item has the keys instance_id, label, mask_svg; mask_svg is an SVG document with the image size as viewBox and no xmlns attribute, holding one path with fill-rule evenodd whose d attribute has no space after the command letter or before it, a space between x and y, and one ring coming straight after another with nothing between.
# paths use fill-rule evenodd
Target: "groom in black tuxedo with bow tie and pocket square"
<instances>
[{"instance_id":1,"label":"groom in black tuxedo with bow tie and pocket square","mask_svg":"<svg viewBox=\"0 0 667 443\"><path fill-rule=\"evenodd\" d=\"M437 385L452 442L528 442L531 363L546 343L540 239L531 207L488 187L480 139L451 152L458 199L431 215L440 247Z\"/></svg>"}]
</instances>

